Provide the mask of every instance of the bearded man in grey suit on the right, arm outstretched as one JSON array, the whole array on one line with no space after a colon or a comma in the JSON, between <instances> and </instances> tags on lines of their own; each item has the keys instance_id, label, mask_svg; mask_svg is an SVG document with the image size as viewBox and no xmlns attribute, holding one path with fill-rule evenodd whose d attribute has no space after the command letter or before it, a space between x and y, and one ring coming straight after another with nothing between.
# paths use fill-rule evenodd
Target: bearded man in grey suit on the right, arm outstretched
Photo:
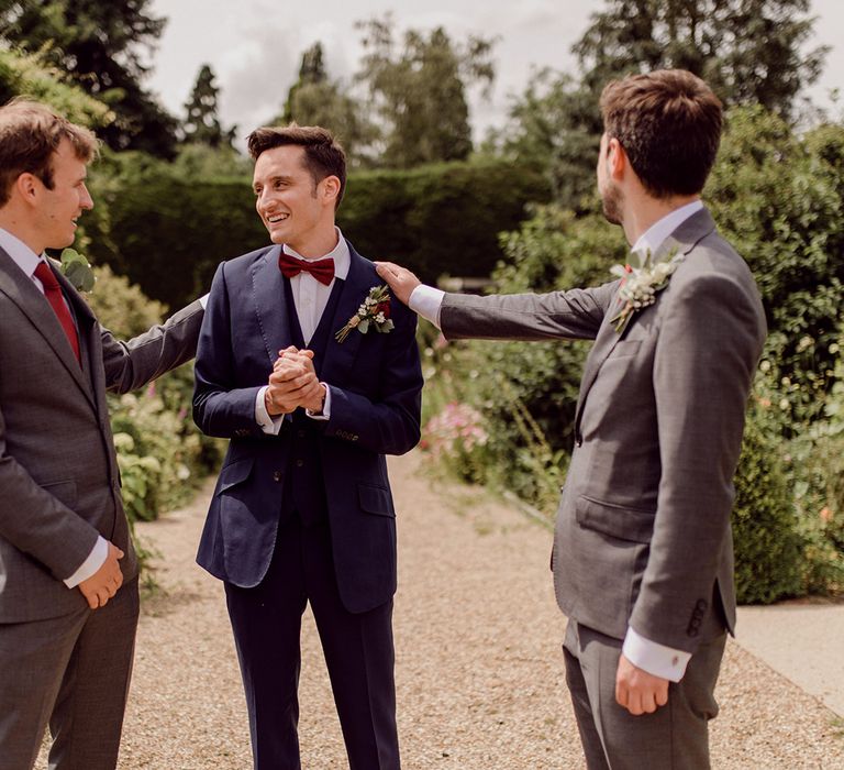
<instances>
[{"instance_id":1,"label":"bearded man in grey suit on the right, arm outstretched","mask_svg":"<svg viewBox=\"0 0 844 770\"><path fill-rule=\"evenodd\" d=\"M448 339L595 340L553 552L580 737L590 769L700 770L735 623L733 474L765 316L700 200L722 124L709 87L684 70L631 76L601 110L598 187L638 267L489 297L379 273Z\"/></svg>"}]
</instances>

